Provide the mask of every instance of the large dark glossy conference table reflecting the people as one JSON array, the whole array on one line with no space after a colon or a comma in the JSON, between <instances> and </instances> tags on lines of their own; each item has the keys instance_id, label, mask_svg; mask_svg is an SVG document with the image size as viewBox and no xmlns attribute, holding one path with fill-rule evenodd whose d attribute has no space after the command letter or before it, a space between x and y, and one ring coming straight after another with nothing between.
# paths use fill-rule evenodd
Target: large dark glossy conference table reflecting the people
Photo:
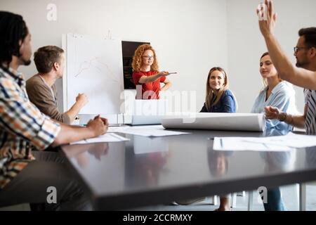
<instances>
[{"instance_id":1,"label":"large dark glossy conference table reflecting the people","mask_svg":"<svg viewBox=\"0 0 316 225\"><path fill-rule=\"evenodd\" d=\"M178 131L178 130L177 130ZM62 146L75 179L96 210L125 210L316 180L316 147L286 152L213 150L216 136L265 132L181 130L190 134Z\"/></svg>"}]
</instances>

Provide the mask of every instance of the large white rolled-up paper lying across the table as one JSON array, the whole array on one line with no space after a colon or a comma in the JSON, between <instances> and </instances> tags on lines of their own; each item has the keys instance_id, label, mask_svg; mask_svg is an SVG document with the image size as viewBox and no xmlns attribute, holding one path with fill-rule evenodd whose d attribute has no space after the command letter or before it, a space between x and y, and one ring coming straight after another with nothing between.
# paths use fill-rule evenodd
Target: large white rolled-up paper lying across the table
<instances>
[{"instance_id":1,"label":"large white rolled-up paper lying across the table","mask_svg":"<svg viewBox=\"0 0 316 225\"><path fill-rule=\"evenodd\" d=\"M188 113L167 115L166 129L208 129L229 131L264 131L265 117L256 113Z\"/></svg>"}]
</instances>

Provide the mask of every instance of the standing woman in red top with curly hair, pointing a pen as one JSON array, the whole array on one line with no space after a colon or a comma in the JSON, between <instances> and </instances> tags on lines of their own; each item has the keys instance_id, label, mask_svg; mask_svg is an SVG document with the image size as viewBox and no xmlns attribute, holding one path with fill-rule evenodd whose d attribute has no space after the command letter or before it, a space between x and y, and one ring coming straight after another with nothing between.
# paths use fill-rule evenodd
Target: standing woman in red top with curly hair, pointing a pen
<instances>
[{"instance_id":1,"label":"standing woman in red top with curly hair, pointing a pen","mask_svg":"<svg viewBox=\"0 0 316 225\"><path fill-rule=\"evenodd\" d=\"M136 99L159 99L159 91L166 91L171 86L166 79L169 72L159 72L156 53L149 44L138 46L132 67ZM162 89L160 83L164 83Z\"/></svg>"}]
</instances>

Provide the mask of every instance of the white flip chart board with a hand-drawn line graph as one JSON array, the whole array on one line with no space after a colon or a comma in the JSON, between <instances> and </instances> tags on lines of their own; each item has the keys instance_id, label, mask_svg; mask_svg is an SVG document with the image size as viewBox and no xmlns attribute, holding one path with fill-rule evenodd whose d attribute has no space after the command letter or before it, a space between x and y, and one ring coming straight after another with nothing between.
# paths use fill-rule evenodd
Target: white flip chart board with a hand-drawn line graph
<instances>
[{"instance_id":1,"label":"white flip chart board with a hand-drawn line graph","mask_svg":"<svg viewBox=\"0 0 316 225\"><path fill-rule=\"evenodd\" d=\"M84 93L88 103L80 114L121 113L124 91L121 40L66 34L62 46L66 53L62 79L64 111L72 107L79 93Z\"/></svg>"}]
</instances>

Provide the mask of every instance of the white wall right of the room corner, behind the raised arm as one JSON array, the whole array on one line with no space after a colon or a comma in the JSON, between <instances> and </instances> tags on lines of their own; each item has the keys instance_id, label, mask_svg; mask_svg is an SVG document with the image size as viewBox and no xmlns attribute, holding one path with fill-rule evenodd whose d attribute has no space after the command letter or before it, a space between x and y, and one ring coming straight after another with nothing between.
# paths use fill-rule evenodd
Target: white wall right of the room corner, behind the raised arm
<instances>
[{"instance_id":1,"label":"white wall right of the room corner, behind the raised arm","mask_svg":"<svg viewBox=\"0 0 316 225\"><path fill-rule=\"evenodd\" d=\"M256 95L262 88L259 73L259 61L267 51L258 27L255 13L260 1L227 0L228 15L228 65L230 87L239 100L239 112L249 113ZM315 0L275 0L278 15L276 36L282 49L296 62L294 46L298 40L298 30L303 27L315 27ZM296 105L303 113L303 89L296 89Z\"/></svg>"}]
</instances>

